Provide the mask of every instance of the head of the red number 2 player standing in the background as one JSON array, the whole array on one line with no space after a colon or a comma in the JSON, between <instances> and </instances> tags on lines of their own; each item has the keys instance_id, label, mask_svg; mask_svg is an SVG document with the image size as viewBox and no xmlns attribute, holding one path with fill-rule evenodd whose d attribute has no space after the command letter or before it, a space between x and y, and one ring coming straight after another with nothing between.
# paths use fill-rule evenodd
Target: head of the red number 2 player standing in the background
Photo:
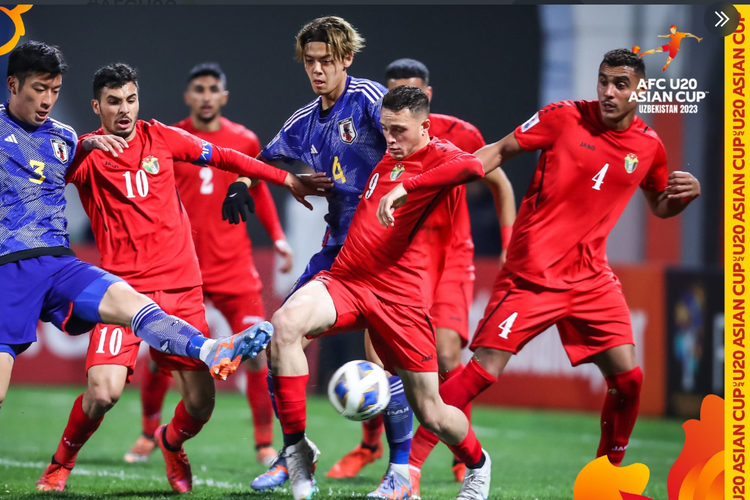
<instances>
[{"instance_id":1,"label":"head of the red number 2 player standing in the background","mask_svg":"<svg viewBox=\"0 0 750 500\"><path fill-rule=\"evenodd\" d=\"M221 108L227 103L227 77L215 62L200 63L190 70L185 90L185 104L190 106L190 115L204 123L221 116Z\"/></svg>"}]
</instances>

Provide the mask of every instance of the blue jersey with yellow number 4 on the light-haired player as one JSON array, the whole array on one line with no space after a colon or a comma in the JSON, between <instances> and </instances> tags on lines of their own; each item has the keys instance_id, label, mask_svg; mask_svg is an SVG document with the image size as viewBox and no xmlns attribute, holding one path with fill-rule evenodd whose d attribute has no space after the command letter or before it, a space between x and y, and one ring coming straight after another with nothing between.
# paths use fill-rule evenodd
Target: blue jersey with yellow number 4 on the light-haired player
<instances>
[{"instance_id":1,"label":"blue jersey with yellow number 4 on the light-haired player","mask_svg":"<svg viewBox=\"0 0 750 500\"><path fill-rule=\"evenodd\" d=\"M380 127L385 92L379 83L347 76L346 90L327 116L320 116L318 97L297 110L260 153L268 161L302 161L333 179L325 245L343 245L367 179L385 154Z\"/></svg>"}]
</instances>

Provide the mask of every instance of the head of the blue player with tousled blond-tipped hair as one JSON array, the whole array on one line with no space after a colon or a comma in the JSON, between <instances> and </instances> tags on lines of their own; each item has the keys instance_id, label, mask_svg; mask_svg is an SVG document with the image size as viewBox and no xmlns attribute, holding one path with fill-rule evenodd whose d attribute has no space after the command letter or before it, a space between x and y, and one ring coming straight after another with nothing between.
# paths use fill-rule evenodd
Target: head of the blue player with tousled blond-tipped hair
<instances>
[{"instance_id":1,"label":"head of the blue player with tousled blond-tipped hair","mask_svg":"<svg viewBox=\"0 0 750 500\"><path fill-rule=\"evenodd\" d=\"M305 65L313 91L336 94L346 85L346 70L365 46L354 27L336 16L319 17L297 33L297 60Z\"/></svg>"}]
</instances>

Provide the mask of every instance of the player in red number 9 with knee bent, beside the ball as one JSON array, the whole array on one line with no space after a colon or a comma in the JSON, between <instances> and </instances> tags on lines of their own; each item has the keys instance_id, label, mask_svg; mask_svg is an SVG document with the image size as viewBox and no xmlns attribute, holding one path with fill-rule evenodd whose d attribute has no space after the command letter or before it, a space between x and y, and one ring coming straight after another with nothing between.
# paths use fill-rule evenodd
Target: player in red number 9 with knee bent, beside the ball
<instances>
[{"instance_id":1,"label":"player in red number 9 with knee bent, beside the ball","mask_svg":"<svg viewBox=\"0 0 750 500\"><path fill-rule=\"evenodd\" d=\"M489 456L461 410L445 405L438 396L437 353L429 319L457 203L457 193L449 188L481 177L482 168L472 155L430 139L428 113L429 100L416 87L397 87L384 96L380 123L388 154L370 175L340 254L330 271L318 273L292 294L271 320L276 341L272 339L270 353L283 454L297 500L316 491L317 450L305 436L309 375L302 339L364 327L370 330L386 369L401 377L417 419L470 467L458 498L487 497ZM394 214L396 206L400 208ZM441 230L425 230L425 219L442 215L443 210L447 217ZM398 474L388 472L399 483L393 488L398 498L411 493L408 467L404 468Z\"/></svg>"}]
</instances>

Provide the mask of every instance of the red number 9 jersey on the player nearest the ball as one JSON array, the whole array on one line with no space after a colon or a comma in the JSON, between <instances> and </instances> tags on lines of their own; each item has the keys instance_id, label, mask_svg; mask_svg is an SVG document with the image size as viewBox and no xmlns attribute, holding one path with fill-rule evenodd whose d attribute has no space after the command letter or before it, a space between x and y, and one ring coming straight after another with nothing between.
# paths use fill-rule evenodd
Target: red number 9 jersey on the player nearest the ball
<instances>
[{"instance_id":1,"label":"red number 9 jersey on the player nearest the ball","mask_svg":"<svg viewBox=\"0 0 750 500\"><path fill-rule=\"evenodd\" d=\"M385 300L429 309L451 242L458 193L435 188L409 193L406 204L394 212L395 225L389 228L378 222L378 204L399 183L449 160L466 165L460 161L464 159L476 162L476 170L481 171L478 159L437 138L400 161L386 154L370 175L331 274L363 283ZM442 224L425 226L427 217L441 204L447 207Z\"/></svg>"}]
</instances>

